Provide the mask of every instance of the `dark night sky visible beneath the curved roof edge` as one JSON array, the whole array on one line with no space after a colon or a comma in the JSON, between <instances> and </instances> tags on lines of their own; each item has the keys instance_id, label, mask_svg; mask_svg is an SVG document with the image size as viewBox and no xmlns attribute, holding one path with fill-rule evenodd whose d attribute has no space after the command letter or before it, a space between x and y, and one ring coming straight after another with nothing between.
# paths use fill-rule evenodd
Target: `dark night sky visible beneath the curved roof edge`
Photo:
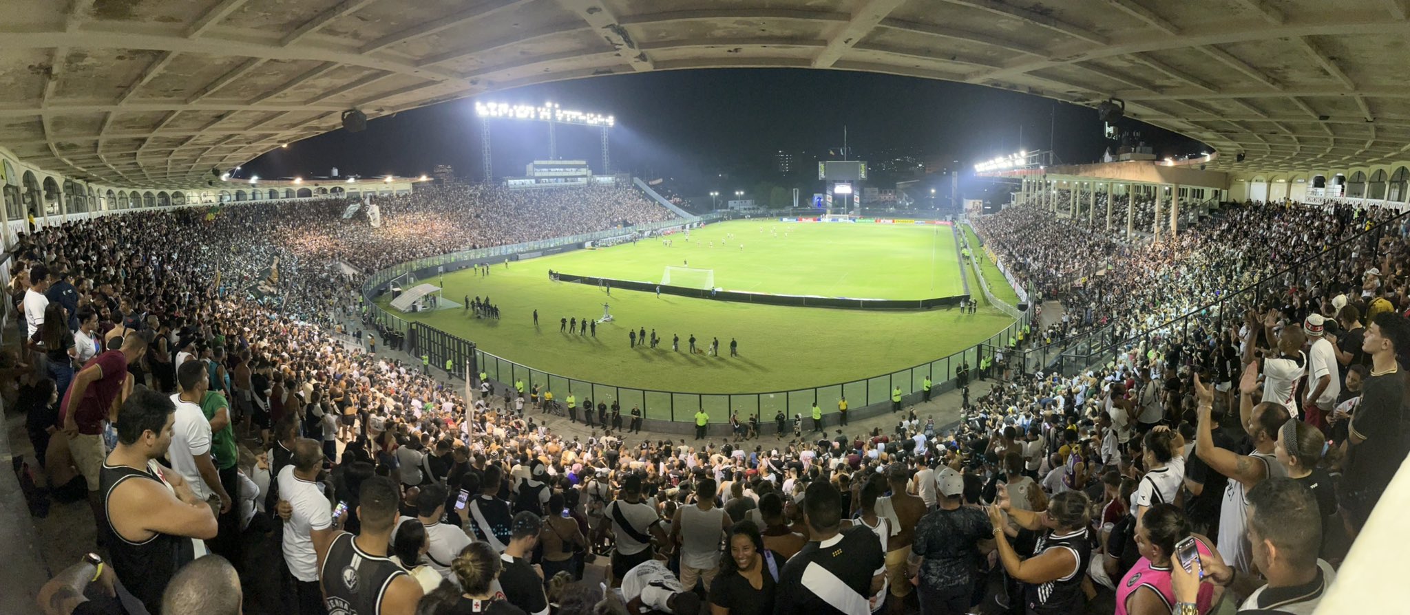
<instances>
[{"instance_id":1,"label":"dark night sky visible beneath the curved roof edge","mask_svg":"<svg viewBox=\"0 0 1410 615\"><path fill-rule=\"evenodd\" d=\"M915 148L924 158L962 167L1018 149L1048 149L1060 162L1098 159L1115 144L1101 135L1097 113L1029 94L984 86L890 75L805 69L670 70L546 83L486 94L481 100L543 104L616 115L612 166L642 177L673 176L708 190L706 177L729 173L740 182L773 172L778 149L814 151L847 144L860 158ZM475 99L403 111L368 122L367 131L338 129L276 149L240 173L261 177L417 176L451 165L462 180L479 179ZM1056 120L1056 121L1053 121ZM1125 120L1159 158L1197 153L1204 146L1182 135ZM1052 128L1056 127L1056 131ZM547 158L547 127L498 121L495 175L522 175ZM1022 131L1022 141L1019 141ZM596 128L560 125L558 158L599 166ZM718 182L716 182L718 183Z\"/></svg>"}]
</instances>

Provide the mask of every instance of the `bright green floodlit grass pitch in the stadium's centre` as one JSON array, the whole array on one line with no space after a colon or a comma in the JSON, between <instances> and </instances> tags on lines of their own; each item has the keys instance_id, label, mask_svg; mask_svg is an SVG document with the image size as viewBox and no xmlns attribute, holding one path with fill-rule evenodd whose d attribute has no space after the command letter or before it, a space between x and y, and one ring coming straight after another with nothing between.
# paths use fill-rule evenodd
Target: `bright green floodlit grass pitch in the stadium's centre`
<instances>
[{"instance_id":1,"label":"bright green floodlit grass pitch in the stadium's centre","mask_svg":"<svg viewBox=\"0 0 1410 615\"><path fill-rule=\"evenodd\" d=\"M764 225L766 239L759 227ZM780 238L768 236L777 227ZM784 229L792 232L783 238ZM860 232L859 232L860 231ZM733 248L706 248L733 232ZM866 236L864 242L857 242ZM736 221L691 231L666 248L658 238L637 245L520 260L491 267L488 277L472 270L448 273L446 296L489 296L499 321L482 321L460 310L407 315L474 341L485 352L546 372L598 383L692 393L757 393L857 380L939 359L983 342L1011 319L997 310L960 314L957 308L925 311L862 311L776 307L712 301L615 289L608 297L596 286L548 281L548 269L587 276L660 280L667 265L689 260L691 267L715 269L716 286L776 293L853 294L860 297L921 297L957 294L957 256L948 227L940 227L943 249L933 229L885 225ZM697 246L704 241L705 246ZM743 255L739 242L743 241ZM845 245L857 242L856 248ZM908 249L897 249L898 243ZM840 252L846 251L846 256ZM726 252L729 256L726 256ZM905 265L909 263L909 265ZM887 269L887 270L883 270ZM900 272L890 269L901 269ZM945 291L929 291L932 272L948 272ZM811 283L798 280L811 272ZM942 287L936 274L936 287ZM744 280L740 283L740 280ZM426 281L437 283L429 279ZM386 305L388 296L379 298ZM598 336L558 332L558 318L601 318L612 304L613 322L599 324ZM539 329L532 311L539 310ZM627 331L646 326L666 341L660 348L630 348ZM671 335L681 352L670 350ZM698 338L701 350L719 336L723 357L691 356L685 341ZM739 338L740 357L729 357L729 339ZM973 363L971 363L973 366ZM825 408L835 410L835 408ZM654 415L654 412L653 412ZM716 417L723 419L725 417Z\"/></svg>"}]
</instances>

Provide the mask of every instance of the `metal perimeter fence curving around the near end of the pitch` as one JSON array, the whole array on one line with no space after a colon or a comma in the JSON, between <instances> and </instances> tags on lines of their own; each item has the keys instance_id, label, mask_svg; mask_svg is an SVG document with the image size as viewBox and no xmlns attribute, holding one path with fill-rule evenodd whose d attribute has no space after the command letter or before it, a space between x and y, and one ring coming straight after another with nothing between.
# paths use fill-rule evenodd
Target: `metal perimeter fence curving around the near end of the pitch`
<instances>
[{"instance_id":1,"label":"metal perimeter fence curving around the near end of the pitch","mask_svg":"<svg viewBox=\"0 0 1410 615\"><path fill-rule=\"evenodd\" d=\"M406 346L410 349L412 355L426 356L433 372L440 370L441 366L446 364L447 359L450 359L457 369L462 369L462 366L465 366L465 360L474 357L475 372L484 372L491 380L506 386L522 380L526 390L533 387L533 384L540 384L541 390L553 391L554 398L558 401L563 401L570 394L577 397L578 404L592 400L594 404L601 401L611 405L616 401L622 405L623 414L626 414L630 408L637 407L642 410L644 418L658 421L692 421L697 410L705 410L711 415L711 422L725 422L732 414L736 412L739 414L740 421L747 421L750 417L759 417L761 422L773 421L780 412L788 418L792 418L795 414L811 417L814 402L816 402L823 412L836 414L838 401L843 397L847 400L849 411L860 411L869 405L884 405L890 402L895 388L901 388L901 394L908 401L914 401L914 398L921 394L926 377L932 381L932 393L939 393L953 386L956 381L956 372L960 366L967 366L971 373L979 374L981 360L986 357L991 362L990 373L997 374L997 370L1001 369L1000 364L1004 353L1007 352L1005 349L1014 346L1018 339L1018 334L1024 326L1024 321L1015 321L983 342L952 355L905 369L842 383L759 393L685 393L603 384L537 370L485 352L475 348L472 342L444 331L422 322L399 318L395 314L382 310L372 301L392 283L392 280L396 280L406 273L433 274L437 267L477 262L499 263L510 256L537 256L546 251L558 251L574 243L620 236L632 231L681 227L689 222L712 221L718 218L718 215L705 215L674 220L668 222L599 231L568 238L462 251L400 263L374 273L362 284L364 300L369 305L368 317L374 322L403 334L406 336Z\"/></svg>"}]
</instances>

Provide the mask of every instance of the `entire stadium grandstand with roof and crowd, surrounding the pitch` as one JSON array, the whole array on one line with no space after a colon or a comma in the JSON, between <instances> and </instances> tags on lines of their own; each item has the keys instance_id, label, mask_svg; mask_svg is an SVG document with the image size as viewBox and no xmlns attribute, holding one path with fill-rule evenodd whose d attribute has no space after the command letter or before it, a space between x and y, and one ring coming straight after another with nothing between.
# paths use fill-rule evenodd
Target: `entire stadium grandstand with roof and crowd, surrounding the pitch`
<instances>
[{"instance_id":1,"label":"entire stadium grandstand with roof and crowd, surrounding the pitch","mask_svg":"<svg viewBox=\"0 0 1410 615\"><path fill-rule=\"evenodd\" d=\"M6 8L0 612L1410 612L1403 0ZM671 182L609 173L606 128L598 175L238 176L453 99L743 66L1018 90L1210 151L983 162L1012 190L997 213L884 222L915 222L932 265L953 238L956 310L1005 332L905 388L857 374L828 408L826 386L643 391L668 418L382 307L721 227ZM713 300L698 272L667 311ZM437 300L509 326L488 296ZM815 353L802 339L788 352Z\"/></svg>"}]
</instances>

